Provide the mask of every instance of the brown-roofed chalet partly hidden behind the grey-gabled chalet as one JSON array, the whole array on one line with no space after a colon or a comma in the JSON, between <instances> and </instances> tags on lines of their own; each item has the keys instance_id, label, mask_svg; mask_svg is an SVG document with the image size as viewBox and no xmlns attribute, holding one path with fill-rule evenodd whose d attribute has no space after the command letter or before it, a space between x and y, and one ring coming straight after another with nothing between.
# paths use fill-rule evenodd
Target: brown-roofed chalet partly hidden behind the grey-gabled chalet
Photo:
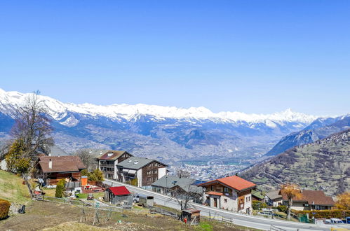
<instances>
[{"instance_id":1,"label":"brown-roofed chalet partly hidden behind the grey-gabled chalet","mask_svg":"<svg viewBox=\"0 0 350 231\"><path fill-rule=\"evenodd\" d=\"M116 165L132 156L126 151L107 151L97 158L98 168L103 172L105 179L115 180L117 179Z\"/></svg>"}]
</instances>

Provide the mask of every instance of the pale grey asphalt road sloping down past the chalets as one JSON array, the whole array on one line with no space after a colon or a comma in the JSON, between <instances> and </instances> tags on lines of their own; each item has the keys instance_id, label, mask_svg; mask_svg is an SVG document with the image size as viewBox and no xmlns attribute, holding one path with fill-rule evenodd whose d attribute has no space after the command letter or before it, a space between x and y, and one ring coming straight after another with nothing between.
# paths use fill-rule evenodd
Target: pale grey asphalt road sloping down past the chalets
<instances>
[{"instance_id":1,"label":"pale grey asphalt road sloping down past the chalets","mask_svg":"<svg viewBox=\"0 0 350 231\"><path fill-rule=\"evenodd\" d=\"M128 188L128 190L131 193L153 196L154 202L156 204L180 210L180 204L178 204L177 200L171 197L168 197L166 195L162 195L160 193L154 193L152 191L144 190L142 188L137 188L135 186L130 186L128 184L120 183L118 181L105 180L104 183L110 186L126 186L126 188ZM223 209L215 209L212 207L207 207L202 204L196 204L196 203L191 203L191 205L194 208L201 210L201 216L207 216L207 217L210 216L211 218L215 218L217 220L222 220L222 218L224 217L225 220L231 219L231 221L236 225L242 225L245 227L256 228L260 230L270 230L271 225L274 225L276 228L281 228L283 230L288 230L288 231L289 230L290 231L330 230L330 228L332 227L330 225L321 226L321 225L298 223L298 222L292 222L292 221L281 221L281 220L272 219L272 218L262 218L258 216L243 215L243 214L238 214L231 211L226 211ZM337 228L337 226L333 226L333 228Z\"/></svg>"}]
</instances>

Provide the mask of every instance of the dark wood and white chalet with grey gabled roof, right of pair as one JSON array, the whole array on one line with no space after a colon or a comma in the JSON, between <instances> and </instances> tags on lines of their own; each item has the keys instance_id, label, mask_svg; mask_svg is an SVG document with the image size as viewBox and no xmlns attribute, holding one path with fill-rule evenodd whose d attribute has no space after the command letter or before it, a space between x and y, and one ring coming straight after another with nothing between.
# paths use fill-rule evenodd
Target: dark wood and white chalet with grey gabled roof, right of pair
<instances>
[{"instance_id":1,"label":"dark wood and white chalet with grey gabled roof, right of pair","mask_svg":"<svg viewBox=\"0 0 350 231\"><path fill-rule=\"evenodd\" d=\"M157 160L132 156L116 164L117 179L128 183L137 179L136 186L151 188L152 183L166 175L167 166Z\"/></svg>"}]
</instances>

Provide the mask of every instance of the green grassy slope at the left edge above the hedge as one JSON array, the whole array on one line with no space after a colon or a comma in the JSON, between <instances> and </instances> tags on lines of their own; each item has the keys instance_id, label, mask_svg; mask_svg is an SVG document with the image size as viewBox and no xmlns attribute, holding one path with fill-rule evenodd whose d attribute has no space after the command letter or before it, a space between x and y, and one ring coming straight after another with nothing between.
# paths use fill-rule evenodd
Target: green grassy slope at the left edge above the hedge
<instances>
[{"instance_id":1,"label":"green grassy slope at the left edge above the hedge","mask_svg":"<svg viewBox=\"0 0 350 231\"><path fill-rule=\"evenodd\" d=\"M21 204L28 202L29 190L22 182L19 176L0 170L0 198Z\"/></svg>"}]
</instances>

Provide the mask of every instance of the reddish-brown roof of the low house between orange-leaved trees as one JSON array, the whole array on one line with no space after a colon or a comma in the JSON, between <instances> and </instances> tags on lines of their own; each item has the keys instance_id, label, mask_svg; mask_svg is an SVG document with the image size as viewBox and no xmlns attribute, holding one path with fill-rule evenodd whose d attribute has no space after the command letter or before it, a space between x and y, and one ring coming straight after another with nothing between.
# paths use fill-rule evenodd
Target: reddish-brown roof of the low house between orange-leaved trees
<instances>
[{"instance_id":1,"label":"reddish-brown roof of the low house between orange-leaved trees","mask_svg":"<svg viewBox=\"0 0 350 231\"><path fill-rule=\"evenodd\" d=\"M334 205L335 202L332 197L328 197L321 190L302 190L302 197L293 199L294 202L307 202L308 204L316 205ZM287 195L282 193L283 200L288 200Z\"/></svg>"}]
</instances>

